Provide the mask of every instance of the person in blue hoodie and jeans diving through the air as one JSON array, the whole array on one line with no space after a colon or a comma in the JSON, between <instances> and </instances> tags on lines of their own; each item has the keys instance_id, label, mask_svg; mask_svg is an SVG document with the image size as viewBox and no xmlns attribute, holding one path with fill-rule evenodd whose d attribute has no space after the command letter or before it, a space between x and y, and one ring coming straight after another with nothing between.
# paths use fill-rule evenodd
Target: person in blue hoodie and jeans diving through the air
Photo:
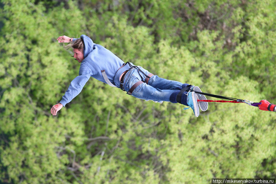
<instances>
[{"instance_id":1,"label":"person in blue hoodie and jeans diving through the air","mask_svg":"<svg viewBox=\"0 0 276 184\"><path fill-rule=\"evenodd\" d=\"M57 40L59 43L72 43L69 46L73 48L74 58L81 64L79 76L72 80L62 100L52 106L52 115L56 115L62 107L75 98L90 77L112 87L121 88L136 98L157 102L169 101L190 106L196 117L199 116L199 108L202 111L208 108L208 102L197 102L197 99L206 100L204 95L194 92L201 92L199 87L163 79L141 66L135 66L130 62L124 63L111 51L93 43L86 35L81 35L77 39L64 35L58 37Z\"/></svg>"}]
</instances>

